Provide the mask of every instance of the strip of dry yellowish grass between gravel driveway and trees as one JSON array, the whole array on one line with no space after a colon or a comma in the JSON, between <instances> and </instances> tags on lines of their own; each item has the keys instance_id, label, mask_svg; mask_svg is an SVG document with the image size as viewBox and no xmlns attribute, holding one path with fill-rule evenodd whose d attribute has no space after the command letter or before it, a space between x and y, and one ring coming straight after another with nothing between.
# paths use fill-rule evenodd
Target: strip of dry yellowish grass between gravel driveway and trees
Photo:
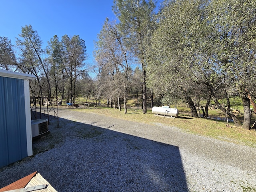
<instances>
[{"instance_id":1,"label":"strip of dry yellowish grass between gravel driveway and trees","mask_svg":"<svg viewBox=\"0 0 256 192\"><path fill-rule=\"evenodd\" d=\"M118 109L97 107L90 109L78 108L74 109L80 112L90 112L110 116L114 118L130 120L133 122L142 122L147 124L161 123L166 126L175 126L182 130L202 136L209 136L219 140L228 142L245 144L256 147L256 132L244 130L240 127L235 127L234 123L230 123L231 128L226 127L226 122L218 120L210 120L204 118L192 118L187 114L179 114L178 118L164 118L155 116L150 110L147 114L143 114L142 110L128 109L127 114Z\"/></svg>"}]
</instances>

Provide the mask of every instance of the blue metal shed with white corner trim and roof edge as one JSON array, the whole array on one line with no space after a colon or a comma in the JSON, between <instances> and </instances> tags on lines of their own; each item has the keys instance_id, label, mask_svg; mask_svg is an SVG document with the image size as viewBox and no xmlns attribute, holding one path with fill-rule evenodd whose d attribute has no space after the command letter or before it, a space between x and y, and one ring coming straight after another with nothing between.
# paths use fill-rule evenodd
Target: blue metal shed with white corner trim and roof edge
<instances>
[{"instance_id":1,"label":"blue metal shed with white corner trim and roof edge","mask_svg":"<svg viewBox=\"0 0 256 192\"><path fill-rule=\"evenodd\" d=\"M0 168L33 155L29 80L35 78L0 70Z\"/></svg>"}]
</instances>

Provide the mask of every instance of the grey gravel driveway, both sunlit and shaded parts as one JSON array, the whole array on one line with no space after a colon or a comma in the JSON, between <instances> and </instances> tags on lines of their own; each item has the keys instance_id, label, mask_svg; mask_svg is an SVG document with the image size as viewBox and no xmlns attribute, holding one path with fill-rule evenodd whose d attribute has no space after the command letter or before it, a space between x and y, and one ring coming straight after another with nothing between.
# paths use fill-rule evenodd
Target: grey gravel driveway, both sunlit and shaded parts
<instances>
[{"instance_id":1,"label":"grey gravel driveway, both sunlit and shaded parts","mask_svg":"<svg viewBox=\"0 0 256 192\"><path fill-rule=\"evenodd\" d=\"M256 148L72 108L59 116L34 141L39 154L0 170L0 188L38 171L58 192L256 191Z\"/></svg>"}]
</instances>

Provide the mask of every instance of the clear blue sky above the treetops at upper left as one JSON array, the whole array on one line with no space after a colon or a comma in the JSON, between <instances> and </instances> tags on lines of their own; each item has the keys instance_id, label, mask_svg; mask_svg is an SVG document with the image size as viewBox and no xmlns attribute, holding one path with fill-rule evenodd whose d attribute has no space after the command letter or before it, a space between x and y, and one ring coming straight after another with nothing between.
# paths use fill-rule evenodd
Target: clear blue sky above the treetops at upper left
<instances>
[{"instance_id":1,"label":"clear blue sky above the treetops at upper left","mask_svg":"<svg viewBox=\"0 0 256 192\"><path fill-rule=\"evenodd\" d=\"M25 25L38 32L44 47L54 35L79 35L86 43L88 63L104 21L116 19L113 0L0 0L0 5L0 36L12 44Z\"/></svg>"}]
</instances>

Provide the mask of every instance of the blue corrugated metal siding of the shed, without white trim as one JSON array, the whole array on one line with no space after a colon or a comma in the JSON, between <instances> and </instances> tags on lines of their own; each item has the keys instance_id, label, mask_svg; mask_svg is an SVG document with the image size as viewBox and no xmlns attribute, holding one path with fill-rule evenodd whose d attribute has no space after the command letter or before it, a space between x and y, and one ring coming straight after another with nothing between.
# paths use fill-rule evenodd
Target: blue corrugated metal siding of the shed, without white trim
<instances>
[{"instance_id":1,"label":"blue corrugated metal siding of the shed, without white trim","mask_svg":"<svg viewBox=\"0 0 256 192\"><path fill-rule=\"evenodd\" d=\"M0 167L27 154L24 80L0 77Z\"/></svg>"}]
</instances>

